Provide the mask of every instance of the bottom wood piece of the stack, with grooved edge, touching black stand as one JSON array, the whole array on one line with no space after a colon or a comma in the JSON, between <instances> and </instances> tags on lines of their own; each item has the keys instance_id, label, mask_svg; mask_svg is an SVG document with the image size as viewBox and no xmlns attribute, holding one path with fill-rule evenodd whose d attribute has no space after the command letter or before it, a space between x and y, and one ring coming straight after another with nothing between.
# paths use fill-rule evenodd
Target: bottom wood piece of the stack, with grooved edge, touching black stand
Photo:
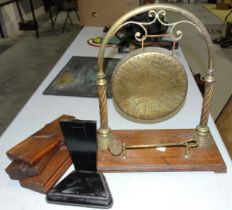
<instances>
[{"instance_id":1,"label":"bottom wood piece of the stack, with grooved edge, touching black stand","mask_svg":"<svg viewBox=\"0 0 232 210\"><path fill-rule=\"evenodd\" d=\"M47 193L71 165L72 160L66 147L62 146L50 159L41 174L20 180L28 189Z\"/></svg>"}]
</instances>

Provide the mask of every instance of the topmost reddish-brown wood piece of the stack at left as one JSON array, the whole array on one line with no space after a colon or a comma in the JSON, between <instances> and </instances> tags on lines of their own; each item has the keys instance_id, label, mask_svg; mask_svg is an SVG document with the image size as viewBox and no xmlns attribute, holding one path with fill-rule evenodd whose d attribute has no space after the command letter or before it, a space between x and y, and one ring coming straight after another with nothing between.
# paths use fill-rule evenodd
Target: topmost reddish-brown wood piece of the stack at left
<instances>
[{"instance_id":1,"label":"topmost reddish-brown wood piece of the stack at left","mask_svg":"<svg viewBox=\"0 0 232 210\"><path fill-rule=\"evenodd\" d=\"M62 115L58 119L45 125L42 129L8 150L8 157L13 160L20 160L29 165L38 163L46 154L62 143L64 137L60 129L59 121L71 119L74 119L74 117Z\"/></svg>"}]
</instances>

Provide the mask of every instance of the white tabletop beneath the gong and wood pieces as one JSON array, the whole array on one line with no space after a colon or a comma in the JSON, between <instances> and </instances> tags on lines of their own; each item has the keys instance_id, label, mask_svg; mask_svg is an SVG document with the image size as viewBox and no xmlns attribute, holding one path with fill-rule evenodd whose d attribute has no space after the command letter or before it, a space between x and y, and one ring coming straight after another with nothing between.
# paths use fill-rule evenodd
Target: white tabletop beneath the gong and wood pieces
<instances>
[{"instance_id":1,"label":"white tabletop beneath the gong and wood pieces","mask_svg":"<svg viewBox=\"0 0 232 210\"><path fill-rule=\"evenodd\" d=\"M83 207L48 204L43 194L20 186L5 172L10 164L6 151L33 134L46 123L62 114L78 119L97 120L98 101L93 98L43 95L42 92L74 56L96 57L98 48L88 46L87 37L102 35L102 28L85 27L61 59L51 70L33 96L18 113L0 138L0 209L1 210L64 210ZM138 124L122 118L108 100L109 125L112 129L143 128L195 128L199 123L202 98L180 50L176 52L184 65L189 82L183 108L171 119L157 124ZM107 49L107 57L117 57L116 51ZM221 137L212 121L209 127L227 165L227 173L213 172L147 172L106 173L114 204L112 209L164 209L164 210L231 210L232 166ZM66 176L73 167L66 172Z\"/></svg>"}]
</instances>

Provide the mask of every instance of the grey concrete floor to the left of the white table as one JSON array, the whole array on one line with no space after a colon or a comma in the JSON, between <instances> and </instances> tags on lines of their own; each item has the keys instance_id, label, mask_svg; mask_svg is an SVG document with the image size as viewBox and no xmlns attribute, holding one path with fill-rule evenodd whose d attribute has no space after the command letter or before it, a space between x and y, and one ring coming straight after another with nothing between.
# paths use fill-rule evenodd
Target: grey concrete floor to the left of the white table
<instances>
[{"instance_id":1,"label":"grey concrete floor to the left of the white table","mask_svg":"<svg viewBox=\"0 0 232 210\"><path fill-rule=\"evenodd\" d=\"M0 39L0 135L79 33L74 15L61 33L64 15L54 29L47 15L40 17L39 39L34 31Z\"/></svg>"}]
</instances>

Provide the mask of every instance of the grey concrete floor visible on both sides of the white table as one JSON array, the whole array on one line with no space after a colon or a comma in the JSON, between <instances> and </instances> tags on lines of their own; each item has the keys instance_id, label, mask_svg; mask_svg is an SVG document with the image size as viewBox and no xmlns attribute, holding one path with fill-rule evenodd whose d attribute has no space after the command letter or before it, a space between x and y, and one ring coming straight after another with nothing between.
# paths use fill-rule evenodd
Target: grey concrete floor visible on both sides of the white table
<instances>
[{"instance_id":1,"label":"grey concrete floor visible on both sides of the white table","mask_svg":"<svg viewBox=\"0 0 232 210\"><path fill-rule=\"evenodd\" d=\"M210 30L222 26L221 21L201 4L177 5L193 12ZM72 17L73 20L75 18ZM52 29L48 17L41 18L39 39L34 32L0 39L0 135L80 31L78 21L74 20L74 25L68 24L61 33L62 16L57 21ZM183 29L186 29L185 26ZM211 35L218 36L217 33ZM207 60L205 46L201 42L199 34L188 28L181 46L192 71L204 76ZM217 82L211 113L215 119L232 93L232 48L222 50L214 45L213 50Z\"/></svg>"}]
</instances>

